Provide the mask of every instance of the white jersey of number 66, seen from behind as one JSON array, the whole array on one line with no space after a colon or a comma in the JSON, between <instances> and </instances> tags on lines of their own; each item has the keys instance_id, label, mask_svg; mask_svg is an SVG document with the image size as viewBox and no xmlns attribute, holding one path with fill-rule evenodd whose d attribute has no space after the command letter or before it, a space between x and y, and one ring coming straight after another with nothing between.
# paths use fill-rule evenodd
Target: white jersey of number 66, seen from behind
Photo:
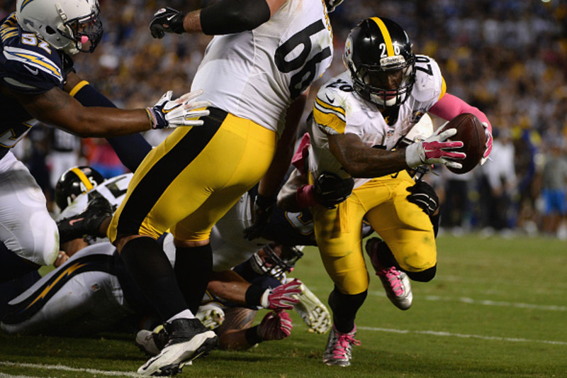
<instances>
[{"instance_id":1,"label":"white jersey of number 66, seen from behind","mask_svg":"<svg viewBox=\"0 0 567 378\"><path fill-rule=\"evenodd\" d=\"M200 100L281 135L286 110L332 60L321 0L288 0L258 28L216 35L193 78Z\"/></svg>"}]
</instances>

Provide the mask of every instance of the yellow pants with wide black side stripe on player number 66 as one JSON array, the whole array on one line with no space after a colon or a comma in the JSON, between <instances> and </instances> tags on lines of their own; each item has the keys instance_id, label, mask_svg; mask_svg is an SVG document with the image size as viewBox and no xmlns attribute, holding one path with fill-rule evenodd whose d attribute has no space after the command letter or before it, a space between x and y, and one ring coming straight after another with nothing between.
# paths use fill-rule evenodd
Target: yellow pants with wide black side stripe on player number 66
<instances>
[{"instance_id":1,"label":"yellow pants with wide black side stripe on player number 66","mask_svg":"<svg viewBox=\"0 0 567 378\"><path fill-rule=\"evenodd\" d=\"M277 135L210 108L203 126L179 127L136 170L113 216L108 238L206 240L215 223L268 169Z\"/></svg>"}]
</instances>

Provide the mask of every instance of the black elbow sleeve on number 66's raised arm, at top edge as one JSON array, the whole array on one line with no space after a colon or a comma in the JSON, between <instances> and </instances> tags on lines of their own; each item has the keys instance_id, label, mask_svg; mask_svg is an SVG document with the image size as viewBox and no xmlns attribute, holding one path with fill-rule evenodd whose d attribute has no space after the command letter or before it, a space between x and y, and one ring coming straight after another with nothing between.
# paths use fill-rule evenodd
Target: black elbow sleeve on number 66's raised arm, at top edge
<instances>
[{"instance_id":1,"label":"black elbow sleeve on number 66's raised arm, at top edge","mask_svg":"<svg viewBox=\"0 0 567 378\"><path fill-rule=\"evenodd\" d=\"M266 0L220 0L201 10L201 28L206 35L252 30L270 19Z\"/></svg>"}]
</instances>

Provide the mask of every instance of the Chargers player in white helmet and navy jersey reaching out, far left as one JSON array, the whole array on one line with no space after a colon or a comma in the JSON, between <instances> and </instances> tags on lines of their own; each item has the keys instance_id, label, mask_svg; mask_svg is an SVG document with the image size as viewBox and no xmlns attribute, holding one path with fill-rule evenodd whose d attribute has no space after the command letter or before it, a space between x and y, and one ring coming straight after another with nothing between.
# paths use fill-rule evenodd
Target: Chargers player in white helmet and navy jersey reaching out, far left
<instances>
[{"instance_id":1,"label":"Chargers player in white helmet and navy jersey reaching out, far left","mask_svg":"<svg viewBox=\"0 0 567 378\"><path fill-rule=\"evenodd\" d=\"M18 0L0 21L0 240L15 262L0 264L0 282L50 265L59 251L57 226L43 192L11 148L36 121L82 137L118 137L150 128L200 125L207 103L193 104L194 92L172 101L164 95L147 109L113 108L111 101L81 79L72 55L92 52L103 27L96 0ZM123 152L141 135L109 140L126 166ZM145 155L147 150L141 150ZM129 152L132 154L131 152ZM9 267L9 268L8 268Z\"/></svg>"}]
</instances>

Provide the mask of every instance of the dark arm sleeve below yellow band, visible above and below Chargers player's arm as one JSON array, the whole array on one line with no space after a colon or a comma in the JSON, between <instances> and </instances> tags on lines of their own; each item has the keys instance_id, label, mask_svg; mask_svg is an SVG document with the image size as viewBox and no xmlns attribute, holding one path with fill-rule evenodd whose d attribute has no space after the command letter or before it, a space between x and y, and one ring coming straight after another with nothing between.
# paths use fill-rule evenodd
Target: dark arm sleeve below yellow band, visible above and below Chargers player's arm
<instances>
[{"instance_id":1,"label":"dark arm sleeve below yellow band, visible above and below Chargers player's arm","mask_svg":"<svg viewBox=\"0 0 567 378\"><path fill-rule=\"evenodd\" d=\"M116 108L112 103L99 91L91 87L90 84L84 85L77 93L74 94L83 106L103 106L105 108ZM120 162L134 172L138 165L144 160L152 145L147 143L142 134L135 133L131 135L124 135L115 138L106 138L108 143L112 146L113 150L118 155Z\"/></svg>"}]
</instances>

